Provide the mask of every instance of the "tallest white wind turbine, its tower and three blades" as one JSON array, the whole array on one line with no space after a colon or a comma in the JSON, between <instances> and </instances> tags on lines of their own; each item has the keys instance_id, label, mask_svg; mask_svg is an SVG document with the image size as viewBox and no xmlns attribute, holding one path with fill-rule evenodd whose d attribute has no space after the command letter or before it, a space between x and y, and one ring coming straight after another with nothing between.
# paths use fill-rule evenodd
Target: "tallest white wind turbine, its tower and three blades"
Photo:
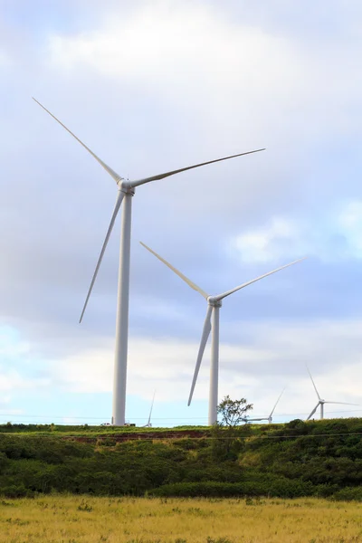
<instances>
[{"instance_id":1,"label":"tallest white wind turbine, its tower and three blades","mask_svg":"<svg viewBox=\"0 0 362 543\"><path fill-rule=\"evenodd\" d=\"M33 99L35 100L35 99ZM90 299L90 293L93 289L94 282L96 280L98 271L100 269L100 263L102 261L104 252L107 247L107 243L110 239L110 233L113 229L117 214L119 213L119 207L123 202L123 213L120 230L120 248L119 248L119 289L118 289L118 302L117 302L117 322L116 322L116 354L114 364L114 380L113 380L113 406L112 406L112 424L121 426L125 424L125 412L126 412L126 380L127 380L127 354L128 354L128 338L129 338L129 255L130 255L130 230L131 230L131 210L132 210L132 196L135 194L135 188L151 181L157 181L164 179L168 176L174 176L186 170L194 169L195 167L205 166L207 164L214 164L215 162L221 162L228 160L229 158L242 157L243 155L250 155L263 151L264 149L255 149L247 151L245 153L239 153L230 157L216 158L209 160L208 162L202 162L201 164L195 164L193 166L182 167L176 170L166 172L164 174L157 174L156 176L145 177L136 181L129 181L119 176L111 167L107 166L100 157L97 157L93 151L90 150L80 138L77 138L70 129L67 129L62 122L54 117L52 113L44 108L44 106L35 100L43 110L45 110L53 119L55 119L66 129L67 132L85 148L92 157L94 157L103 167L108 174L116 181L118 185L118 195L116 199L116 205L114 207L113 214L110 219L110 226L108 228L106 238L100 251L100 257L98 259L96 269L94 271L92 280L90 282L90 289L88 291L83 310L81 311L81 319L84 315L84 311L87 307L88 300ZM80 322L81 322L80 319Z\"/></svg>"}]
</instances>

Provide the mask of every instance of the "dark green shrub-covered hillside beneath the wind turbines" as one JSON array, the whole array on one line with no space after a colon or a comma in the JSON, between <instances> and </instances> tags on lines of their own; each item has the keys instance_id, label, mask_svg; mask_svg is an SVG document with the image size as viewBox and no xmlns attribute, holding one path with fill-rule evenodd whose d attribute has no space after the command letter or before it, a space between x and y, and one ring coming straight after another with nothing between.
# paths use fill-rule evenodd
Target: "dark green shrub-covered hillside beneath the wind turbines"
<instances>
[{"instance_id":1,"label":"dark green shrub-covered hillside beneath the wind turbines","mask_svg":"<svg viewBox=\"0 0 362 543\"><path fill-rule=\"evenodd\" d=\"M0 492L362 500L362 419L207 428L0 427Z\"/></svg>"}]
</instances>

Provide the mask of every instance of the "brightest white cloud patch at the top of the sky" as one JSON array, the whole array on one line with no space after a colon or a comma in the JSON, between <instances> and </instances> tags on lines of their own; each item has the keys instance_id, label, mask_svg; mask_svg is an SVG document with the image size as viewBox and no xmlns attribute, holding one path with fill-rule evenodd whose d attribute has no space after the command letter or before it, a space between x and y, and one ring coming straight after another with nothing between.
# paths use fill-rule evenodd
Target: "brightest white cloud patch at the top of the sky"
<instances>
[{"instance_id":1,"label":"brightest white cloud patch at the top of the sky","mask_svg":"<svg viewBox=\"0 0 362 543\"><path fill-rule=\"evenodd\" d=\"M220 88L233 95L242 90L242 99L258 90L261 98L262 86L269 81L269 91L277 85L287 97L291 86L297 88L299 73L291 43L257 27L245 26L240 32L224 9L211 5L143 4L129 16L122 11L109 15L92 32L53 35L49 49L51 61L67 70L88 66L165 94L171 85L177 94L186 90L198 95L202 83L211 94Z\"/></svg>"}]
</instances>

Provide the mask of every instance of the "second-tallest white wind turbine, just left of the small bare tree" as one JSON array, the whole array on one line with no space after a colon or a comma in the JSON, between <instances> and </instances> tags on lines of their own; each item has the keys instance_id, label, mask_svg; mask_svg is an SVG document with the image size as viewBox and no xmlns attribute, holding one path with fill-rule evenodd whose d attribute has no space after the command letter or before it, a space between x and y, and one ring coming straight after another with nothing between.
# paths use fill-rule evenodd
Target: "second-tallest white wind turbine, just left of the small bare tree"
<instances>
[{"instance_id":1,"label":"second-tallest white wind turbine, just left of the small bare tree","mask_svg":"<svg viewBox=\"0 0 362 543\"><path fill-rule=\"evenodd\" d=\"M203 359L207 339L210 335L210 331L213 330L212 337L211 337L211 367L210 367L209 414L208 414L208 424L211 426L212 424L215 424L217 421L217 392L218 392L218 375L219 375L219 310L222 306L222 300L224 300L224 298L226 298L227 296L230 296L230 294L233 294L233 292L240 291L240 289L243 289L244 287L251 285L253 282L259 281L263 279L264 277L268 277L268 275L271 275L272 273L276 273L276 271L281 271L284 268L288 268L292 264L295 264L297 262L304 260L304 258L300 258L299 260L290 262L289 264L285 264L284 266L281 266L280 268L277 268L276 270L272 270L272 271L269 271L268 273L264 273L263 275L256 277L255 279L252 279L252 281L247 281L243 283L242 285L235 287L231 291L226 291L226 292L223 292L222 294L217 294L216 296L210 296L209 294L207 294L207 292L203 291L200 287L198 287L195 284L195 282L187 279L187 277L183 273L181 273L181 271L176 270L174 266L172 266L169 262L167 262L165 259L159 256L157 252L150 249L145 243L142 243L142 242L139 242L139 243L141 243L141 245L143 245L146 249L148 249L149 252L152 252L152 254L154 254L158 260L160 260L161 262L164 262L164 264L166 264L168 268L170 268L170 270L175 271L178 277L180 277L183 281L185 281L189 287L194 289L194 291L199 292L207 301L207 311L206 311L206 318L204 322L204 329L203 329L203 334L201 336L200 348L198 350L198 355L196 359L194 378L192 381L191 391L190 391L187 405L191 404L192 396L194 394L196 379L198 376L198 371L200 369L201 361Z\"/></svg>"}]
</instances>

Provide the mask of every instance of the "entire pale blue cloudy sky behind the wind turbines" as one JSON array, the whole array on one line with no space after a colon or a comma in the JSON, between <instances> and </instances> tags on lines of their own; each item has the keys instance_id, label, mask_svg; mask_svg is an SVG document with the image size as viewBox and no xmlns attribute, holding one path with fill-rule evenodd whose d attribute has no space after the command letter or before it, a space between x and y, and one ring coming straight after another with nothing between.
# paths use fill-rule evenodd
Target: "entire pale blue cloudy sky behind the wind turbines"
<instances>
[{"instance_id":1,"label":"entire pale blue cloudy sky behind the wind turbines","mask_svg":"<svg viewBox=\"0 0 362 543\"><path fill-rule=\"evenodd\" d=\"M362 404L362 5L0 0L0 421L110 420L119 224L81 325L114 181L263 148L138 188L127 419L205 424L205 300L224 300L219 397L275 420ZM329 405L328 416L362 407ZM348 411L351 410L351 411Z\"/></svg>"}]
</instances>

